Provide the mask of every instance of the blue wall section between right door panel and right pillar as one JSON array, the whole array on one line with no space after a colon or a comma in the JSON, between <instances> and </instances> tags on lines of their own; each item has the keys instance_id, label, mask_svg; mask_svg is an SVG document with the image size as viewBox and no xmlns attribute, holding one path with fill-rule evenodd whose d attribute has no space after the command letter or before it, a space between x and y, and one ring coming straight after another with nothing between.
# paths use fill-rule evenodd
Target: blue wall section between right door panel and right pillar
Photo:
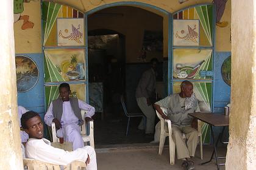
<instances>
[{"instance_id":1,"label":"blue wall section between right door panel and right pillar","mask_svg":"<svg viewBox=\"0 0 256 170\"><path fill-rule=\"evenodd\" d=\"M224 60L231 55L231 52L215 53L215 87L214 87L214 108L213 112L223 112L224 106L230 103L230 86L221 77L221 66Z\"/></svg>"}]
</instances>

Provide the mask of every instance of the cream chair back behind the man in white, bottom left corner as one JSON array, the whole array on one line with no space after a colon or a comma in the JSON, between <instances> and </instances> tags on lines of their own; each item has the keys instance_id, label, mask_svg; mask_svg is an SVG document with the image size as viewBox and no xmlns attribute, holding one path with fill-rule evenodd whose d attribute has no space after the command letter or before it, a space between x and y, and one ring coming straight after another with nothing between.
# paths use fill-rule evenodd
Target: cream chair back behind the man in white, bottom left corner
<instances>
[{"instance_id":1,"label":"cream chair back behind the man in white, bottom left corner","mask_svg":"<svg viewBox=\"0 0 256 170\"><path fill-rule=\"evenodd\" d=\"M28 170L60 170L60 165L55 165L52 163L47 163L40 160L34 160L29 158L23 159L24 169L25 167ZM65 170L85 170L86 165L84 161L76 160L71 162L70 164L63 166Z\"/></svg>"}]
</instances>

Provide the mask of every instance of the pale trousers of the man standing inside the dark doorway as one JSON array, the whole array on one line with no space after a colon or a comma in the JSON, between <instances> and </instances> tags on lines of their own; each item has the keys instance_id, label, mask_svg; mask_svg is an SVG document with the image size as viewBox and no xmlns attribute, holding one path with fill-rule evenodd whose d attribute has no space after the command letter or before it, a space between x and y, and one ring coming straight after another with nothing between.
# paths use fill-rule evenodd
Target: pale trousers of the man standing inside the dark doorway
<instances>
[{"instance_id":1,"label":"pale trousers of the man standing inside the dark doorway","mask_svg":"<svg viewBox=\"0 0 256 170\"><path fill-rule=\"evenodd\" d=\"M136 98L136 100L141 111L147 117L146 134L152 134L155 126L155 110L152 106L148 106L147 99L145 97ZM141 120L138 129L144 129L143 119Z\"/></svg>"}]
</instances>

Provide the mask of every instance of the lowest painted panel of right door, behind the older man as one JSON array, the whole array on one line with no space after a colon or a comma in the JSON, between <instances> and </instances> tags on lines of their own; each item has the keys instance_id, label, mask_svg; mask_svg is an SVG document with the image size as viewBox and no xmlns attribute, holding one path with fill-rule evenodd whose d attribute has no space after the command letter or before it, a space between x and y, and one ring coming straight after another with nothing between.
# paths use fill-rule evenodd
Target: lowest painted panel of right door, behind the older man
<instances>
[{"instance_id":1,"label":"lowest painted panel of right door, behind the older man","mask_svg":"<svg viewBox=\"0 0 256 170\"><path fill-rule=\"evenodd\" d=\"M175 82L173 85L173 93L180 92L180 84ZM212 105L212 83L211 82L193 82L194 94L198 100L201 112L211 112ZM207 123L200 122L202 128L202 140L204 143L210 143L210 127Z\"/></svg>"}]
</instances>

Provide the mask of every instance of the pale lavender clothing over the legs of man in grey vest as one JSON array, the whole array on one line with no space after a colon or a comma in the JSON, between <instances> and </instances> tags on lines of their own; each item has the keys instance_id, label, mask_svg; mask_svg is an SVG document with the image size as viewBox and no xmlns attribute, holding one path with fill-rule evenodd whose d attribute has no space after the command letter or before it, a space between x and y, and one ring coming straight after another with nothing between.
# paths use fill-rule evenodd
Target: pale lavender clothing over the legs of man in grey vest
<instances>
[{"instance_id":1,"label":"pale lavender clothing over the legs of man in grey vest","mask_svg":"<svg viewBox=\"0 0 256 170\"><path fill-rule=\"evenodd\" d=\"M77 148L84 147L80 128L78 124L67 124L57 131L57 136L60 137L59 134L63 134L64 140L71 142L73 144L73 151L75 151Z\"/></svg>"}]
</instances>

